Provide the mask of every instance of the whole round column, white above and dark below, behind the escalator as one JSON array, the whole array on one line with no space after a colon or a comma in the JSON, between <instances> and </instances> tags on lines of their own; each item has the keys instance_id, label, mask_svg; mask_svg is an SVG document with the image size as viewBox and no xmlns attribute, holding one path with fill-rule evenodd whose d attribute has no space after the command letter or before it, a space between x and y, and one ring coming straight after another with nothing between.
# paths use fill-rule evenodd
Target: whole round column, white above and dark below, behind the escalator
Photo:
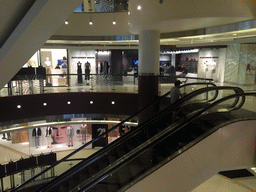
<instances>
[{"instance_id":1,"label":"whole round column, white above and dark below, behind the escalator","mask_svg":"<svg viewBox=\"0 0 256 192\"><path fill-rule=\"evenodd\" d=\"M138 99L139 109L158 99L160 32L144 30L139 33ZM158 112L158 105L139 115L139 123Z\"/></svg>"}]
</instances>

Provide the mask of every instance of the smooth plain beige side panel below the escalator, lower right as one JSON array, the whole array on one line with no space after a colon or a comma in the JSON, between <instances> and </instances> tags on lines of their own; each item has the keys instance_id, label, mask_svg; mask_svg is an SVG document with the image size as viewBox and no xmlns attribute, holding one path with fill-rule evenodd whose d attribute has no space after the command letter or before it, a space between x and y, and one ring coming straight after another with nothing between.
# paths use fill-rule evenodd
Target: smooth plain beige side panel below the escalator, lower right
<instances>
[{"instance_id":1,"label":"smooth plain beige side panel below the escalator, lower right","mask_svg":"<svg viewBox=\"0 0 256 192\"><path fill-rule=\"evenodd\" d=\"M188 192L219 171L254 165L255 127L256 120L222 127L126 192Z\"/></svg>"}]
</instances>

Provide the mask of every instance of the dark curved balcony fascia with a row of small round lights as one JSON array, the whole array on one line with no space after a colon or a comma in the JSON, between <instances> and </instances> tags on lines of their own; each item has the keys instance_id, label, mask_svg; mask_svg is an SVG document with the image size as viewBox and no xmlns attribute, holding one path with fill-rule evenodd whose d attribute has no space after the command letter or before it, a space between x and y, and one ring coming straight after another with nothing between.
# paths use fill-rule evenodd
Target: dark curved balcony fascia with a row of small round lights
<instances>
[{"instance_id":1,"label":"dark curved balcony fascia with a row of small round lights","mask_svg":"<svg viewBox=\"0 0 256 192\"><path fill-rule=\"evenodd\" d=\"M114 105L112 101L115 101ZM47 106L43 103L47 103ZM21 105L21 108L18 109L17 105ZM131 115L137 111L138 95L78 92L12 96L0 98L0 108L0 122L62 114Z\"/></svg>"}]
</instances>

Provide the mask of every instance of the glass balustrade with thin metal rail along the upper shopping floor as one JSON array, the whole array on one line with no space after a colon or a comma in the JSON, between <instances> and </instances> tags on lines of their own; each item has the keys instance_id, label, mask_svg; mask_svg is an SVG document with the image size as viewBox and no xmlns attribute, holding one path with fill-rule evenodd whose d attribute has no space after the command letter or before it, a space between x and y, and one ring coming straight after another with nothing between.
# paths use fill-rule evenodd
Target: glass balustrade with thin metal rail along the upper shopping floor
<instances>
[{"instance_id":1,"label":"glass balustrade with thin metal rail along the upper shopping floor","mask_svg":"<svg viewBox=\"0 0 256 192\"><path fill-rule=\"evenodd\" d=\"M50 77L50 78L49 78ZM17 81L11 81L0 90L0 96L30 95L56 92L138 92L137 75L112 75L91 74L89 79L83 74L47 74L46 79L22 76ZM181 76L158 76L159 87L162 93L166 93L166 87L180 80L184 84L212 82L212 79L181 77ZM170 87L167 87L170 89ZM160 94L160 95L161 95Z\"/></svg>"}]
</instances>

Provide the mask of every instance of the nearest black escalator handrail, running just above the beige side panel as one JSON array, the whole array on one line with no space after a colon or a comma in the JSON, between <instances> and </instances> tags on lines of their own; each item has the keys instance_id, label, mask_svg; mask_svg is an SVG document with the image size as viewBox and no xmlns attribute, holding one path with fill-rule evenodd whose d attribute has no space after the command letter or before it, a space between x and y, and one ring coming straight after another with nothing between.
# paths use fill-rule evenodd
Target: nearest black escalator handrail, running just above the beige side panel
<instances>
[{"instance_id":1,"label":"nearest black escalator handrail, running just above the beige side panel","mask_svg":"<svg viewBox=\"0 0 256 192\"><path fill-rule=\"evenodd\" d=\"M229 95L229 96L226 96L226 97L224 97L224 98L222 98L222 99L219 99L219 100L215 101L214 103L212 103L211 105L209 105L209 106L205 107L204 109L200 110L198 113L194 114L194 115L191 116L190 118L186 119L186 121L183 121L182 124L179 124L179 125L178 125L179 128L177 128L177 129L175 129L175 130L169 130L169 131L172 132L172 133L170 133L170 134L173 134L174 132L178 131L179 129L183 128L184 126L186 126L187 124L189 124L190 122L192 122L193 120L199 118L201 115L203 115L203 114L204 114L205 112L207 112L208 110L212 109L213 107L217 106L218 104L220 104L220 103L222 103L222 102L225 102L225 101L227 101L227 100L229 100L229 99L233 99L233 98L237 98L237 97L242 97L242 102L241 102L242 105L239 105L239 108L241 108L241 107L243 106L244 102L245 102L245 96L256 96L256 92L252 92L252 93L237 93L237 94ZM236 107L236 109L238 109L238 107ZM164 137L166 137L166 133L161 133L161 137L163 137L163 135L164 135ZM160 137L159 137L159 138L160 138ZM157 139L159 139L159 138L157 138ZM143 152L143 151L145 151L146 149L148 149L150 146L153 145L152 142L147 142L146 144L147 144L147 145L144 146L144 148L140 149L140 153ZM112 174L112 173L115 171L115 169L118 169L119 167L124 166L124 164L126 163L126 160L129 160L131 156L138 156L138 154L139 154L138 151L132 151L131 153L133 153L133 154L132 154L132 155L131 155L131 154L126 155L126 156L122 159L122 161L120 161L120 163L119 163L117 166L115 166L114 168L109 167L109 171L105 170L105 174L104 174L103 176L101 176L100 178L98 178L98 179L95 178L95 179L92 181L93 183L92 183L92 184L89 184L88 187L93 186L94 183L96 183L96 182L100 182L100 181L101 181L102 179L104 179L107 175ZM135 155L134 153L136 153L136 155ZM114 170L113 170L113 169L114 169ZM102 178L102 177L103 177L103 178ZM81 187L81 186L79 186L79 187ZM81 189L82 189L82 190L86 190L86 189L83 188L83 187L82 187Z\"/></svg>"}]
</instances>

